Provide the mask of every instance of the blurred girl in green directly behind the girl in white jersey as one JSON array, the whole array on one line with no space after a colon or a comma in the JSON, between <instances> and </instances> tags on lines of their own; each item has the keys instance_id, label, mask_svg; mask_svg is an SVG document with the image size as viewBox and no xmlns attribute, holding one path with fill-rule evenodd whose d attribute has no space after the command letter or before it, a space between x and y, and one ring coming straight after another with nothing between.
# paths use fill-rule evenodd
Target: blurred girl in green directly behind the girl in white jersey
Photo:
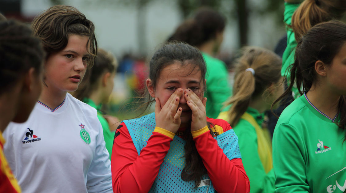
<instances>
[{"instance_id":1,"label":"blurred girl in green directly behind the girl in white jersey","mask_svg":"<svg viewBox=\"0 0 346 193\"><path fill-rule=\"evenodd\" d=\"M105 115L101 109L102 104L108 103L112 93L117 66L117 60L111 53L98 49L92 68L86 70L83 82L78 90L73 92L74 97L97 110L110 158L114 139L113 131L117 129L120 121L114 116Z\"/></svg>"}]
</instances>

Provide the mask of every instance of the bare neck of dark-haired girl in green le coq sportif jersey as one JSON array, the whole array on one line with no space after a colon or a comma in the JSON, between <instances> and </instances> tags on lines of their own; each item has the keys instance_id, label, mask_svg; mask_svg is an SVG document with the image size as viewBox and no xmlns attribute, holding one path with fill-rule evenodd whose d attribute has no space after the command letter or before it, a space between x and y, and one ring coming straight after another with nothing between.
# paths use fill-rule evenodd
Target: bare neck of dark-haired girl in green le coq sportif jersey
<instances>
[{"instance_id":1,"label":"bare neck of dark-haired girl in green le coq sportif jersey","mask_svg":"<svg viewBox=\"0 0 346 193\"><path fill-rule=\"evenodd\" d=\"M333 119L338 113L340 95L333 92L327 85L313 84L306 96L318 110L329 118Z\"/></svg>"}]
</instances>

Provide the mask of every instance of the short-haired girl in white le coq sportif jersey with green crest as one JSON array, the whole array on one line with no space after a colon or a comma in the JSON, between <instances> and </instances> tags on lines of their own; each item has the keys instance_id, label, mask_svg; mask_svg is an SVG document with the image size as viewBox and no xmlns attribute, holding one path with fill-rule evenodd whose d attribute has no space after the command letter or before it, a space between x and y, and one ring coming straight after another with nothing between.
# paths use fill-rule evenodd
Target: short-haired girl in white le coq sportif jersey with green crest
<instances>
[{"instance_id":1,"label":"short-haired girl in white le coq sportif jersey with green crest","mask_svg":"<svg viewBox=\"0 0 346 193\"><path fill-rule=\"evenodd\" d=\"M28 121L11 123L5 155L23 192L112 192L97 111L73 98L97 53L93 23L53 6L31 24L47 52L42 94Z\"/></svg>"}]
</instances>

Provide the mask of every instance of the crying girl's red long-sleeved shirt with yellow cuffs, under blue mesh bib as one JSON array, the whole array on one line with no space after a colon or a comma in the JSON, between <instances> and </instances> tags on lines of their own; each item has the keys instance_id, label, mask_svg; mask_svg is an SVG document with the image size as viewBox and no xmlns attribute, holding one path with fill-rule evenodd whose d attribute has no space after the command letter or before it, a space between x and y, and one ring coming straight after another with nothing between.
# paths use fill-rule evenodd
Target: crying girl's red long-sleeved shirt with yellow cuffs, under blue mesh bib
<instances>
[{"instance_id":1,"label":"crying girl's red long-sleeved shirt with yellow cuffs, under blue mesh bib","mask_svg":"<svg viewBox=\"0 0 346 193\"><path fill-rule=\"evenodd\" d=\"M232 129L224 120L208 118L207 121L215 125L213 131L216 135ZM112 150L113 191L148 192L169 151L174 134L156 127L138 156L125 123L122 122L121 125L116 131ZM207 127L192 132L192 136L217 192L249 192L249 179L242 159L229 160Z\"/></svg>"}]
</instances>

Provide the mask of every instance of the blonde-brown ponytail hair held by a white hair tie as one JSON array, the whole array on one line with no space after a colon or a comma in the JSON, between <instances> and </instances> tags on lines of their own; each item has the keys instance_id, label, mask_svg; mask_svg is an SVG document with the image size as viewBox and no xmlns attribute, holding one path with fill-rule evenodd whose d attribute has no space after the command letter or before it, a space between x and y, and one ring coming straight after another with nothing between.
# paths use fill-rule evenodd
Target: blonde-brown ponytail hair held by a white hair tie
<instances>
[{"instance_id":1,"label":"blonde-brown ponytail hair held by a white hair tie","mask_svg":"<svg viewBox=\"0 0 346 193\"><path fill-rule=\"evenodd\" d=\"M263 95L272 83L279 82L281 64L281 58L270 50L254 46L243 48L242 56L236 62L233 96L225 102L225 105L233 104L228 111L230 125L238 123L252 99ZM255 73L246 71L248 68L254 69Z\"/></svg>"}]
</instances>

